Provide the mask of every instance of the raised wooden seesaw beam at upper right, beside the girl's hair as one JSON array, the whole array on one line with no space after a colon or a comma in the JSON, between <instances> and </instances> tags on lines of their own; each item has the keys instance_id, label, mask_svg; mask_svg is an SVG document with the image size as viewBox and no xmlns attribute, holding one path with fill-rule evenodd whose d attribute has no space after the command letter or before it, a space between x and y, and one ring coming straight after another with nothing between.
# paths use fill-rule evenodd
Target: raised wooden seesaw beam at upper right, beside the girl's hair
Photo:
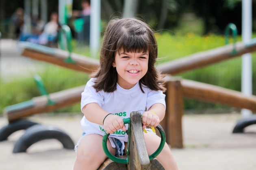
<instances>
[{"instance_id":1,"label":"raised wooden seesaw beam at upper right, beside the girl's hair","mask_svg":"<svg viewBox=\"0 0 256 170\"><path fill-rule=\"evenodd\" d=\"M231 54L233 47L233 45L226 45L208 51L194 53L186 57L159 64L156 68L161 70L163 73L174 75L208 66L210 64L215 64L223 60L232 59L234 57L239 57L243 54L256 51L256 39L252 39L251 43L246 45L242 42L236 43L237 53L234 55Z\"/></svg>"}]
</instances>

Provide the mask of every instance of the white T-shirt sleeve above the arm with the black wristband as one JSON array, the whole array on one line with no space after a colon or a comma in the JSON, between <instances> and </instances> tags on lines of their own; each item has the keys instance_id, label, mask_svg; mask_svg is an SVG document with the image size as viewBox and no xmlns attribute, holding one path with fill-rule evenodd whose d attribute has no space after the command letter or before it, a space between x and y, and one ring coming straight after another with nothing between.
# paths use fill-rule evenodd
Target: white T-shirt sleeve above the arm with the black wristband
<instances>
[{"instance_id":1,"label":"white T-shirt sleeve above the arm with the black wristband","mask_svg":"<svg viewBox=\"0 0 256 170\"><path fill-rule=\"evenodd\" d=\"M90 79L85 86L85 90L82 92L81 110L89 103L97 103L100 107L104 104L104 91L96 92L93 85L93 79Z\"/></svg>"}]
</instances>

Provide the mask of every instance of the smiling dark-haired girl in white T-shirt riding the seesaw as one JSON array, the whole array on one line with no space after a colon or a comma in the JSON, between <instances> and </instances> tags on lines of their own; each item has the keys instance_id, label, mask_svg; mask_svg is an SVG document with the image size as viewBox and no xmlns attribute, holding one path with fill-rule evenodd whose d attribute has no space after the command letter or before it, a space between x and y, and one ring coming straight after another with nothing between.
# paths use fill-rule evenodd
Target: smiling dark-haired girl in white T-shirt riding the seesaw
<instances>
[{"instance_id":1,"label":"smiling dark-haired girl in white T-shirt riding the seesaw","mask_svg":"<svg viewBox=\"0 0 256 170\"><path fill-rule=\"evenodd\" d=\"M84 131L76 145L74 170L96 170L107 158L102 149L102 136L110 133L108 150L122 155L127 147L128 125L124 118L132 111L142 114L143 129L156 127L165 116L165 87L154 64L157 43L154 33L144 22L134 19L113 19L108 23L100 53L100 67L91 74L82 93L81 120ZM111 114L110 114L111 113ZM158 148L161 138L144 133L148 154ZM165 170L178 170L176 161L165 143L156 157Z\"/></svg>"}]
</instances>

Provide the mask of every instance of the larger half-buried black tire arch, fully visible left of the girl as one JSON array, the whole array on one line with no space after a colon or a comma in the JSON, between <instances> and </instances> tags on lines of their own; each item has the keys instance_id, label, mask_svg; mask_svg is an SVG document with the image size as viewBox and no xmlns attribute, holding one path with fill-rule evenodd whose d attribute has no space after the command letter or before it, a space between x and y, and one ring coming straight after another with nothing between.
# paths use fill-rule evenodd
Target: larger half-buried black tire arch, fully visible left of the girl
<instances>
[{"instance_id":1,"label":"larger half-buried black tire arch, fully visible left of the girl","mask_svg":"<svg viewBox=\"0 0 256 170\"><path fill-rule=\"evenodd\" d=\"M15 143L13 153L26 152L32 144L45 139L59 140L66 149L74 149L73 140L62 130L51 125L34 125L29 127Z\"/></svg>"}]
</instances>

